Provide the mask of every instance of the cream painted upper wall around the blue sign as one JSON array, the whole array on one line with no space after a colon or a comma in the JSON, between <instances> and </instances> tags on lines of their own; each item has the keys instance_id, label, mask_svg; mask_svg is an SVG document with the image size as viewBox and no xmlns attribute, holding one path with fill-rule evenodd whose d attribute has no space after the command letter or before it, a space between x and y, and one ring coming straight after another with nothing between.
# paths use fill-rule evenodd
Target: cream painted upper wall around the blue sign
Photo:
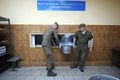
<instances>
[{"instance_id":1,"label":"cream painted upper wall around the blue sign","mask_svg":"<svg viewBox=\"0 0 120 80\"><path fill-rule=\"evenodd\" d=\"M37 0L0 0L0 16L12 24L120 25L120 0L86 0L86 11L38 11Z\"/></svg>"}]
</instances>

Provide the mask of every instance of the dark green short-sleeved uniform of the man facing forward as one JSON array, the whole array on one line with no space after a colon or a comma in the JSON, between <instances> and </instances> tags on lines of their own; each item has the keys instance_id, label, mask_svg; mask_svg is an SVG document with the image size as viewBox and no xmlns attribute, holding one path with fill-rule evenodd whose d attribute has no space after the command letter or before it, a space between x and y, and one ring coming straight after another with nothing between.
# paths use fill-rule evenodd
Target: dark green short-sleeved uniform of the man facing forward
<instances>
[{"instance_id":1,"label":"dark green short-sleeved uniform of the man facing forward","mask_svg":"<svg viewBox=\"0 0 120 80\"><path fill-rule=\"evenodd\" d=\"M88 50L88 41L91 40L93 36L90 31L86 31L85 34L83 34L81 31L78 31L75 33L75 38L76 38L77 49L76 49L74 65L78 65L80 59L79 65L81 67L84 67L84 62Z\"/></svg>"}]
</instances>

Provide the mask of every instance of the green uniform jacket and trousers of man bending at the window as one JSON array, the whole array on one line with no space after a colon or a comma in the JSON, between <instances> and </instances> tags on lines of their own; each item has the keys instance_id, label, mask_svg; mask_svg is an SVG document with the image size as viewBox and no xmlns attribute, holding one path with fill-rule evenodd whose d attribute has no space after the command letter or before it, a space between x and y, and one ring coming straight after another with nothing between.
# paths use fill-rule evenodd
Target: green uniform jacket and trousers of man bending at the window
<instances>
[{"instance_id":1,"label":"green uniform jacket and trousers of man bending at the window","mask_svg":"<svg viewBox=\"0 0 120 80\"><path fill-rule=\"evenodd\" d=\"M46 64L48 69L51 69L53 64L52 51L51 51L53 39L55 40L55 43L58 44L59 41L56 31L52 28L48 28L43 33L43 40L42 40L42 48L46 55Z\"/></svg>"}]
</instances>

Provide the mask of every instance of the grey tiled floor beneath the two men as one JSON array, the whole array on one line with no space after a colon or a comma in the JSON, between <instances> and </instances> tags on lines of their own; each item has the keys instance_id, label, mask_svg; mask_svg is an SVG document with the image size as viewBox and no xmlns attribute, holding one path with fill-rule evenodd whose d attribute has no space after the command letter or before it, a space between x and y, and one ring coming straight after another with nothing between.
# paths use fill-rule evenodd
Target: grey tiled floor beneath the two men
<instances>
[{"instance_id":1,"label":"grey tiled floor beneath the two men","mask_svg":"<svg viewBox=\"0 0 120 80\"><path fill-rule=\"evenodd\" d=\"M45 67L22 67L17 71L8 69L0 74L0 80L89 80L95 74L105 74L120 79L120 69L111 66L86 66L85 72L80 72L78 68L56 67L54 72L56 77L47 77Z\"/></svg>"}]
</instances>

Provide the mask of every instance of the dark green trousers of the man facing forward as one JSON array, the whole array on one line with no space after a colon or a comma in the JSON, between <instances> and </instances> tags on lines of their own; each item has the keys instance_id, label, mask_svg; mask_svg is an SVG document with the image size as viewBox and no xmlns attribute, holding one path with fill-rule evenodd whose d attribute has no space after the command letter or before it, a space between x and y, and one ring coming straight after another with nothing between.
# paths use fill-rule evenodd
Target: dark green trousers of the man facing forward
<instances>
[{"instance_id":1,"label":"dark green trousers of the man facing forward","mask_svg":"<svg viewBox=\"0 0 120 80\"><path fill-rule=\"evenodd\" d=\"M86 55L87 55L87 48L86 49L77 48L76 49L75 60L74 60L74 65L77 66L78 63L79 63L79 60L80 60L79 66L81 68L83 68L84 63L85 63Z\"/></svg>"}]
</instances>

